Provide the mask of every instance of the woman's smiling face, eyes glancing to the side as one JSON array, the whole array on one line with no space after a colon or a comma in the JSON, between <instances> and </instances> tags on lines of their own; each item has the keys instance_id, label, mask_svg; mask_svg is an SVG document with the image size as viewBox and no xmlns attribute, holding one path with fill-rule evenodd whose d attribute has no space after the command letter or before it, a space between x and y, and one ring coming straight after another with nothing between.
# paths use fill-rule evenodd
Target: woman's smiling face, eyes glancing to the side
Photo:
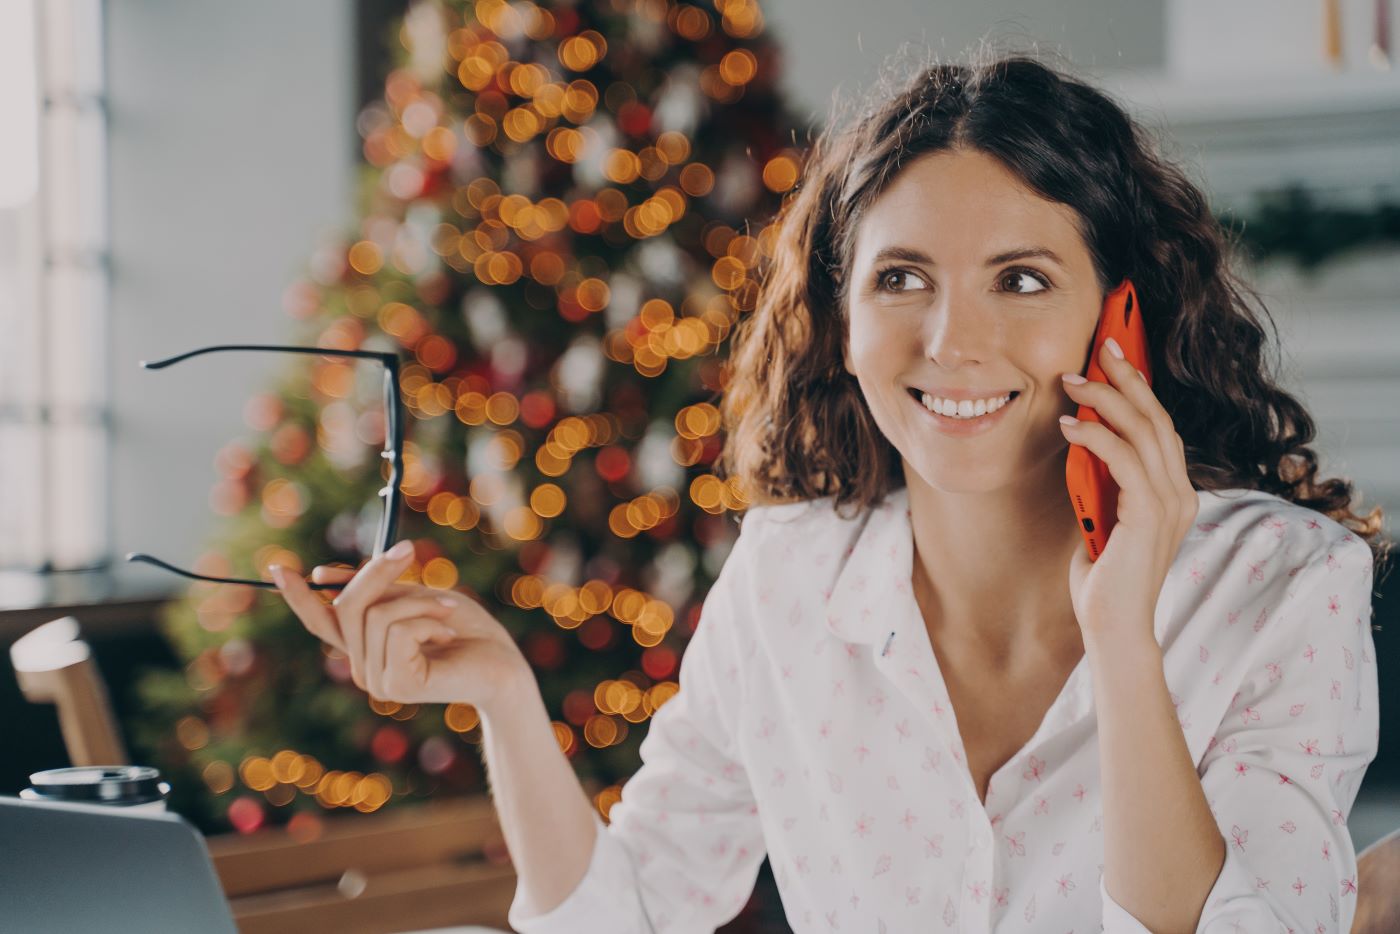
<instances>
[{"instance_id":1,"label":"woman's smiling face, eyes glancing to the side","mask_svg":"<svg viewBox=\"0 0 1400 934\"><path fill-rule=\"evenodd\" d=\"M1021 251L1046 252L1009 256ZM1071 207L983 153L927 154L857 230L846 370L906 471L949 492L1011 486L1068 445L1058 417L1078 406L1060 374L1084 370L1102 302ZM911 388L1016 396L951 423Z\"/></svg>"}]
</instances>

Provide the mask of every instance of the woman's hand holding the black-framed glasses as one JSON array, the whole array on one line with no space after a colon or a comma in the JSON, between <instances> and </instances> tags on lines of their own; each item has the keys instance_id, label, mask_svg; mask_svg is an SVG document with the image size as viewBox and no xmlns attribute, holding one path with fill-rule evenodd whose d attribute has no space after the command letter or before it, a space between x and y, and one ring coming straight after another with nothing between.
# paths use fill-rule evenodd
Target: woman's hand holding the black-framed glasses
<instances>
[{"instance_id":1,"label":"woman's hand holding the black-framed glasses","mask_svg":"<svg viewBox=\"0 0 1400 934\"><path fill-rule=\"evenodd\" d=\"M277 590L302 625L350 658L356 686L396 703L465 703L479 711L533 678L511 634L465 594L399 584L412 562L389 553L364 567L321 566L316 583L347 581L330 605L287 569Z\"/></svg>"}]
</instances>

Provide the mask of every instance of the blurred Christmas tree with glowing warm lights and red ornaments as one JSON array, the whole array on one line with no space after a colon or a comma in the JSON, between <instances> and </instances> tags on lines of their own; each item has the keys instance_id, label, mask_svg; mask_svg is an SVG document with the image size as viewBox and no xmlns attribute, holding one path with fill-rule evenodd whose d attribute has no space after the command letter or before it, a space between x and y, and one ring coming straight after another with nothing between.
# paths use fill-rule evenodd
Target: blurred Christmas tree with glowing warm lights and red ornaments
<instances>
[{"instance_id":1,"label":"blurred Christmas tree with glowing warm lights and red ornaments","mask_svg":"<svg viewBox=\"0 0 1400 934\"><path fill-rule=\"evenodd\" d=\"M812 129L752 0L430 0L398 39L290 343L400 354L410 577L515 634L606 816L746 506L714 403ZM372 552L382 371L286 365L217 458L200 573ZM196 583L161 625L186 665L132 735L206 832L486 793L470 706L367 696L276 591Z\"/></svg>"}]
</instances>

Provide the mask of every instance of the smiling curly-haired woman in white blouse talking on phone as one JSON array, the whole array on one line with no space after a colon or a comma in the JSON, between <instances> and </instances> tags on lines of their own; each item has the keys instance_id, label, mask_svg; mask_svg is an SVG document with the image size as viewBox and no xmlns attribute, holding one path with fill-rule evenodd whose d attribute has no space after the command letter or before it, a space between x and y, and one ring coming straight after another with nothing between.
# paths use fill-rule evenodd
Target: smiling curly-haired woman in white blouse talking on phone
<instances>
[{"instance_id":1,"label":"smiling curly-haired woman in white blouse talking on phone","mask_svg":"<svg viewBox=\"0 0 1400 934\"><path fill-rule=\"evenodd\" d=\"M1203 195L1008 56L823 136L780 221L724 398L753 506L610 823L407 553L280 584L361 688L482 711L511 924L708 931L767 853L797 931L1348 930L1380 517L1316 479ZM1124 277L1154 384L1075 382ZM1068 444L1121 489L1092 563Z\"/></svg>"}]
</instances>

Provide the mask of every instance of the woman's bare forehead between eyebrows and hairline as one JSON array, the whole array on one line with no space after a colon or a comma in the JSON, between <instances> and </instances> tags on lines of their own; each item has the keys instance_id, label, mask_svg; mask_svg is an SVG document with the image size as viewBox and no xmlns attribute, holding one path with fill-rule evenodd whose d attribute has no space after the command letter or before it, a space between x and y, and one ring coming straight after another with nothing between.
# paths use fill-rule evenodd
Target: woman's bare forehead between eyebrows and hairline
<instances>
[{"instance_id":1,"label":"woman's bare forehead between eyebrows and hairline","mask_svg":"<svg viewBox=\"0 0 1400 934\"><path fill-rule=\"evenodd\" d=\"M980 263L986 255L1037 242L1068 259L1086 253L1072 207L1032 192L995 158L977 151L931 153L906 165L869 206L855 258L881 246L925 248L935 258Z\"/></svg>"}]
</instances>

